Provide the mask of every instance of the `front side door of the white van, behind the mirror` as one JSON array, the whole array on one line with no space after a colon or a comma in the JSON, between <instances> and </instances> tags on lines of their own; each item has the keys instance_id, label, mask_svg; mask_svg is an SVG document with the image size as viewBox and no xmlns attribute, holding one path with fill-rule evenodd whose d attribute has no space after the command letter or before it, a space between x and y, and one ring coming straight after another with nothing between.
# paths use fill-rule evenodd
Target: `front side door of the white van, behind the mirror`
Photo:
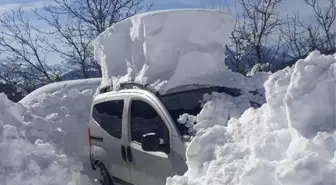
<instances>
[{"instance_id":1,"label":"front side door of the white van, behind the mirror","mask_svg":"<svg viewBox=\"0 0 336 185\"><path fill-rule=\"evenodd\" d=\"M172 155L169 152L169 124L162 119L155 103L146 97L132 97L129 105L127 154L131 155L132 184L164 185L166 178L174 175ZM162 151L148 152L142 149L142 136L148 133L156 133L160 137Z\"/></svg>"}]
</instances>

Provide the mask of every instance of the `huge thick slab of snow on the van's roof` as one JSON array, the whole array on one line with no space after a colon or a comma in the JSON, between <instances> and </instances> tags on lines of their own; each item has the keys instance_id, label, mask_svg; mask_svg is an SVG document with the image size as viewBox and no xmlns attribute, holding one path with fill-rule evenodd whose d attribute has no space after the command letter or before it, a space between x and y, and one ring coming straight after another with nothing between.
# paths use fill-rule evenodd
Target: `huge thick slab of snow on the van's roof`
<instances>
[{"instance_id":1,"label":"huge thick slab of snow on the van's roof","mask_svg":"<svg viewBox=\"0 0 336 185\"><path fill-rule=\"evenodd\" d=\"M233 27L228 13L205 9L154 11L121 21L94 42L102 86L136 81L155 83L160 91L189 84L252 87L224 63Z\"/></svg>"}]
</instances>

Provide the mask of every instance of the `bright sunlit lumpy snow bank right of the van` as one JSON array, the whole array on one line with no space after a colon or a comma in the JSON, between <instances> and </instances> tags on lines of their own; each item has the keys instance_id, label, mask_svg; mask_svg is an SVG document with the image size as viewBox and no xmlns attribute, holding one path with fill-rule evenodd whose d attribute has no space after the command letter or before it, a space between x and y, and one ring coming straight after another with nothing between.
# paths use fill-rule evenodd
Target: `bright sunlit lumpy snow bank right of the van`
<instances>
[{"instance_id":1,"label":"bright sunlit lumpy snow bank right of the van","mask_svg":"<svg viewBox=\"0 0 336 185\"><path fill-rule=\"evenodd\" d=\"M336 184L336 55L312 52L264 86L267 103L227 126L221 113L203 116L225 111L217 109L223 100L205 104L187 149L189 170L168 185Z\"/></svg>"}]
</instances>

